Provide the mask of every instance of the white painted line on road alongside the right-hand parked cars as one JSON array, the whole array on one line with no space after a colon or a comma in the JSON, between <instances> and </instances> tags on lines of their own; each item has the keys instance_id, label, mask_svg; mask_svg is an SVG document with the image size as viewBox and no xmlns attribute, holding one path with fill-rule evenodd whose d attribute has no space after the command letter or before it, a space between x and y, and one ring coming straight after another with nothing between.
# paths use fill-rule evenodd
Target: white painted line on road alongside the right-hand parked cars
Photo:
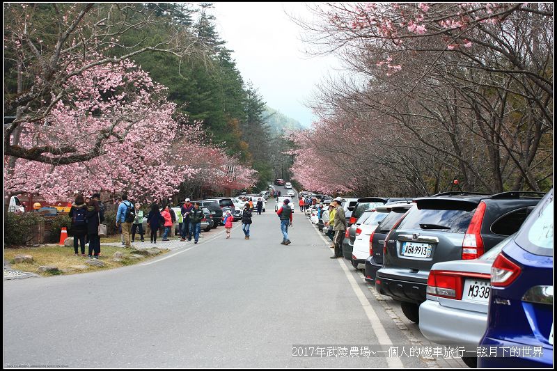
<instances>
[{"instance_id":1,"label":"white painted line on road alongside the right-hand parked cars","mask_svg":"<svg viewBox=\"0 0 557 371\"><path fill-rule=\"evenodd\" d=\"M330 250L330 248L328 247L329 242L327 242L327 239L323 237L322 233L320 233L319 230L317 230L317 234L326 244L327 249ZM377 342L379 343L379 345L393 345L393 342L391 341L391 338L389 338L389 335L387 334L383 324L377 319L377 313L375 313L375 310L368 301L368 298L365 294L363 294L363 291L359 287L358 283L356 283L356 280L354 280L352 273L350 272L348 267L346 267L346 264L343 260L344 259L340 258L337 259L338 264L340 265L340 267L342 267L346 278L348 278L348 282L350 282L350 285L352 286L352 290L354 290L354 294L356 294L356 297L358 297L364 312L366 312L373 333L375 333L375 336L377 336ZM400 361L400 358L387 357L387 365L389 365L389 368L404 368L404 365L402 365L402 361Z\"/></svg>"}]
</instances>

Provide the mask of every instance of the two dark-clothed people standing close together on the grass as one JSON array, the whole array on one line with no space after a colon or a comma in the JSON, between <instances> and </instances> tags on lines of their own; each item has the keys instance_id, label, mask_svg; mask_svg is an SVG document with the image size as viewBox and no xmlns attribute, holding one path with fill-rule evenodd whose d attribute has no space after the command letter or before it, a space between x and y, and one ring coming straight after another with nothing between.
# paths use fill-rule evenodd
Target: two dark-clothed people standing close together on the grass
<instances>
[{"instance_id":1,"label":"two dark-clothed people standing close together on the grass","mask_svg":"<svg viewBox=\"0 0 557 371\"><path fill-rule=\"evenodd\" d=\"M87 257L98 259L100 256L99 224L104 221L104 206L100 202L100 194L93 194L91 198L77 194L68 215L72 219L71 230L74 235L75 255L79 256L78 247L81 247L81 256L85 256L85 245L89 244Z\"/></svg>"}]
</instances>

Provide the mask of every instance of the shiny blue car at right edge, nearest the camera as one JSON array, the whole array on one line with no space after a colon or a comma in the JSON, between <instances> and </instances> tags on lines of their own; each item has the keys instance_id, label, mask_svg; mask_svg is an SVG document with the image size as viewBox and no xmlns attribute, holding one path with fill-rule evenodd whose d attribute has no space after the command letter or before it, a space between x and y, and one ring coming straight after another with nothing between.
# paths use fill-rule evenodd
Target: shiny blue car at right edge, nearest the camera
<instances>
[{"instance_id":1,"label":"shiny blue car at right edge, nearest the camera","mask_svg":"<svg viewBox=\"0 0 557 371\"><path fill-rule=\"evenodd\" d=\"M551 189L493 263L480 347L497 346L506 356L480 356L479 368L553 367L553 212ZM512 347L527 346L542 352L509 356Z\"/></svg>"}]
</instances>

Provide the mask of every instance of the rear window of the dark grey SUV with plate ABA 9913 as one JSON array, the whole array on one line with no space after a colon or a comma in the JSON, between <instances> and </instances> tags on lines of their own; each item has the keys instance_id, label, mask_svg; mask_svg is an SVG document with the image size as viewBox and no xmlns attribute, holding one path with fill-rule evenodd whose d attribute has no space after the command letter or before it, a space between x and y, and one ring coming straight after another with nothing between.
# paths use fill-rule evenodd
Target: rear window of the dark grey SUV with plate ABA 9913
<instances>
[{"instance_id":1,"label":"rear window of the dark grey SUV with plate ABA 9913","mask_svg":"<svg viewBox=\"0 0 557 371\"><path fill-rule=\"evenodd\" d=\"M465 233L473 214L473 210L420 210L415 208L408 213L397 229L423 229Z\"/></svg>"}]
</instances>

